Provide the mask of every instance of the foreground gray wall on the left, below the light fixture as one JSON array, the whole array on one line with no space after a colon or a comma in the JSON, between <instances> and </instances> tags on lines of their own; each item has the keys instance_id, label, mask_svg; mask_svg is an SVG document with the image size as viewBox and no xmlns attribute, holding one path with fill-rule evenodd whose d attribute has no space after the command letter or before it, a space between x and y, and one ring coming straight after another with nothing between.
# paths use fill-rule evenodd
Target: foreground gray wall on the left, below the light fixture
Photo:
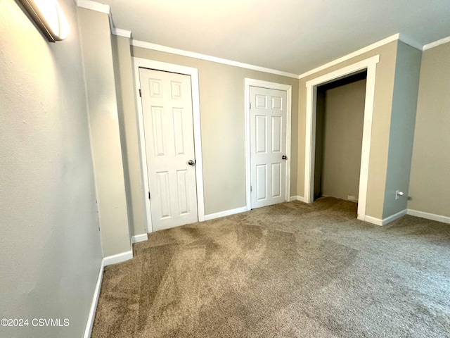
<instances>
[{"instance_id":1,"label":"foreground gray wall on the left, below the light fixture","mask_svg":"<svg viewBox=\"0 0 450 338\"><path fill-rule=\"evenodd\" d=\"M0 337L82 337L101 265L94 171L74 1L50 44L16 1L0 1Z\"/></svg>"}]
</instances>

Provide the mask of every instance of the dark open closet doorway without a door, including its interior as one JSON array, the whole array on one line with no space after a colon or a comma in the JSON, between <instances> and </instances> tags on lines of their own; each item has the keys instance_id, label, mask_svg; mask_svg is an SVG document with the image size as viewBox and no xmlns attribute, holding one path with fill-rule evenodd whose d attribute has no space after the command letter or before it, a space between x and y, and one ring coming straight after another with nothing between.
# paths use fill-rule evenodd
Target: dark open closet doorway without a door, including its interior
<instances>
[{"instance_id":1,"label":"dark open closet doorway without a door, including its interior","mask_svg":"<svg viewBox=\"0 0 450 338\"><path fill-rule=\"evenodd\" d=\"M314 201L357 202L367 71L317 87Z\"/></svg>"}]
</instances>

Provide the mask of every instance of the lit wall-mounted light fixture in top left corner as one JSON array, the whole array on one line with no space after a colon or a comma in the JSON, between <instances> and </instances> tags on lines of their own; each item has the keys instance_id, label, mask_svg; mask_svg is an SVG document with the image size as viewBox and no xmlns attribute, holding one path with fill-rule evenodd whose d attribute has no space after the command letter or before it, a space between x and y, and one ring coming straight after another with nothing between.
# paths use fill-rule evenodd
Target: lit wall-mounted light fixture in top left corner
<instances>
[{"instance_id":1,"label":"lit wall-mounted light fixture in top left corner","mask_svg":"<svg viewBox=\"0 0 450 338\"><path fill-rule=\"evenodd\" d=\"M49 42L61 41L69 35L69 23L58 0L19 0L20 4L44 33Z\"/></svg>"}]
</instances>

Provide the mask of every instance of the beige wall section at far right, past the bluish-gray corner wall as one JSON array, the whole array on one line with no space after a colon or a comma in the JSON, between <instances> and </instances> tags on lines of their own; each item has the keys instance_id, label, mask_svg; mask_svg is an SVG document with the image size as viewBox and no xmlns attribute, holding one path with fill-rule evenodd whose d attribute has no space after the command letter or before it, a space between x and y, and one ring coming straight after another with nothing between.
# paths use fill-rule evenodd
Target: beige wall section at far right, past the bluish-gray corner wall
<instances>
[{"instance_id":1,"label":"beige wall section at far right, past the bluish-gray corner wall","mask_svg":"<svg viewBox=\"0 0 450 338\"><path fill-rule=\"evenodd\" d=\"M450 43L423 52L408 208L450 217Z\"/></svg>"}]
</instances>

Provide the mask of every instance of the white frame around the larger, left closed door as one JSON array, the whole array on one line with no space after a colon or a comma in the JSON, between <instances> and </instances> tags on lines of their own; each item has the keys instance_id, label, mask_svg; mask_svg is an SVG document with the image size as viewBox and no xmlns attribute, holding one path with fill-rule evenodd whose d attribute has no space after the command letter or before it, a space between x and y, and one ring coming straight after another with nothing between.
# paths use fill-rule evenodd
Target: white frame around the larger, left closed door
<instances>
[{"instance_id":1,"label":"white frame around the larger, left closed door","mask_svg":"<svg viewBox=\"0 0 450 338\"><path fill-rule=\"evenodd\" d=\"M179 73L191 76L192 87L192 113L193 113L193 128L194 128L194 147L195 147L195 178L197 183L197 208L198 221L205 220L205 202L203 196L203 161L202 161L202 139L200 137L200 90L198 87L198 69L186 67L184 65L174 65L172 63L165 63L160 61L148 60L146 58L133 57L134 68L134 83L136 86L136 106L137 106L137 122L138 122L138 139L139 139L139 153L141 158L141 178L143 182L143 202L146 206L146 227L147 232L153 232L150 199L148 199L148 192L150 192L148 184L148 168L146 155L146 139L143 130L143 110L141 96L139 96L139 89L141 89L141 82L139 78L139 68L148 68L154 70L162 70L171 73Z\"/></svg>"}]
</instances>

